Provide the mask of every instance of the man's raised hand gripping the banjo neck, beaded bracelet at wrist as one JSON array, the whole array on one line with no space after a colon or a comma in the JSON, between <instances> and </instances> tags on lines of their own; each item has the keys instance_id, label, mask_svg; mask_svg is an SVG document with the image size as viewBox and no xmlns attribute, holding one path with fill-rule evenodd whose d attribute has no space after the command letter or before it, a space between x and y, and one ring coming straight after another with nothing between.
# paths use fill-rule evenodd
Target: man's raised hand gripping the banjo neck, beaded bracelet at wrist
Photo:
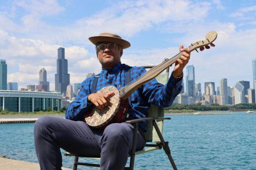
<instances>
[{"instance_id":1,"label":"man's raised hand gripping the banjo neck, beaded bracelet at wrist","mask_svg":"<svg viewBox=\"0 0 256 170\"><path fill-rule=\"evenodd\" d=\"M179 77L182 74L183 68L190 59L190 50L188 48L184 48L182 44L180 45L180 52L183 52L182 56L175 62L175 67L173 70L173 74L176 77Z\"/></svg>"}]
</instances>

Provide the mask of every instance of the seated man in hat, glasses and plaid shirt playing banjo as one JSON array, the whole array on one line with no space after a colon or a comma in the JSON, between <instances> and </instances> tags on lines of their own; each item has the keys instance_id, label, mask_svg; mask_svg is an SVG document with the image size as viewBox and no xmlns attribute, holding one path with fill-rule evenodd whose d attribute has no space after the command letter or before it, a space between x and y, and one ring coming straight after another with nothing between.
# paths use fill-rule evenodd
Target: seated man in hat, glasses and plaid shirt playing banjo
<instances>
[{"instance_id":1,"label":"seated man in hat, glasses and plaid shirt playing banjo","mask_svg":"<svg viewBox=\"0 0 256 170\"><path fill-rule=\"evenodd\" d=\"M97 58L102 65L96 91L107 85L122 88L126 84L128 70L131 81L146 72L141 67L121 64L123 49L130 47L130 43L120 36L102 33L90 37L89 40L96 45ZM131 109L121 123L112 123L104 130L99 130L89 127L84 122L84 113L93 105L104 109L110 102L110 96L113 95L113 92L108 94L93 92L95 76L82 82L78 96L67 108L66 119L49 116L38 119L35 122L34 136L41 170L61 170L60 148L79 156L101 157L101 170L122 170L128 160L133 141L133 126L125 123L125 120L146 117L151 103L161 107L172 105L182 89L183 68L190 58L190 51L183 48L183 45L180 45L180 51L183 51L183 55L175 63L168 83L162 85L152 79L134 91L131 95ZM136 150L145 147L146 130L147 121L140 122Z\"/></svg>"}]
</instances>

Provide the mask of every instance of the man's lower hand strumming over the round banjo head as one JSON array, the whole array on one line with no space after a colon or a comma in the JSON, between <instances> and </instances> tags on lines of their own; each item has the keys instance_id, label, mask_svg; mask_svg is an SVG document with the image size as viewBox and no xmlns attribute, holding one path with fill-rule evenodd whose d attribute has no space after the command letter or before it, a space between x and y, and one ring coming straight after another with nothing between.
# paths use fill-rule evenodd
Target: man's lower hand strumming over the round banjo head
<instances>
[{"instance_id":1,"label":"man's lower hand strumming over the round banjo head","mask_svg":"<svg viewBox=\"0 0 256 170\"><path fill-rule=\"evenodd\" d=\"M88 101L92 102L97 108L103 110L105 107L108 107L110 102L110 96L114 95L115 93L109 92L105 93L93 93L90 94L87 98Z\"/></svg>"}]
</instances>

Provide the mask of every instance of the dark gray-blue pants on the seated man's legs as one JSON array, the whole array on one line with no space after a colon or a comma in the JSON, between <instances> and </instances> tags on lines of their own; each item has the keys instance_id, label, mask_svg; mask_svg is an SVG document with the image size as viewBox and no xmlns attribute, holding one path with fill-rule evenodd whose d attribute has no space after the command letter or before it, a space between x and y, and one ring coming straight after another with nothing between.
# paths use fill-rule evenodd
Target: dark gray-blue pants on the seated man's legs
<instances>
[{"instance_id":1,"label":"dark gray-blue pants on the seated man's legs","mask_svg":"<svg viewBox=\"0 0 256 170\"><path fill-rule=\"evenodd\" d=\"M100 170L122 170L133 141L133 126L122 122L99 131L85 122L44 116L35 122L35 151L41 170L61 170L60 148L88 157L101 157ZM145 147L145 136L139 129L136 150Z\"/></svg>"}]
</instances>

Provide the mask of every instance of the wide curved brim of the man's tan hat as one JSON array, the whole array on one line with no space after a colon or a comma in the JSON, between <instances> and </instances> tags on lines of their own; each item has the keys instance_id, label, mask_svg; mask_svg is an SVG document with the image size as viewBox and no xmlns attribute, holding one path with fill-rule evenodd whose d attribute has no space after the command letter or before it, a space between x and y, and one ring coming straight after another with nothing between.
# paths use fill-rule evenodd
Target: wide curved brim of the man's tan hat
<instances>
[{"instance_id":1,"label":"wide curved brim of the man's tan hat","mask_svg":"<svg viewBox=\"0 0 256 170\"><path fill-rule=\"evenodd\" d=\"M122 46L123 49L129 48L131 46L130 42L123 40L121 38L116 38L116 37L95 36L95 37L90 37L89 40L94 45L97 45L98 42L113 42L113 43L116 43L117 45Z\"/></svg>"}]
</instances>

